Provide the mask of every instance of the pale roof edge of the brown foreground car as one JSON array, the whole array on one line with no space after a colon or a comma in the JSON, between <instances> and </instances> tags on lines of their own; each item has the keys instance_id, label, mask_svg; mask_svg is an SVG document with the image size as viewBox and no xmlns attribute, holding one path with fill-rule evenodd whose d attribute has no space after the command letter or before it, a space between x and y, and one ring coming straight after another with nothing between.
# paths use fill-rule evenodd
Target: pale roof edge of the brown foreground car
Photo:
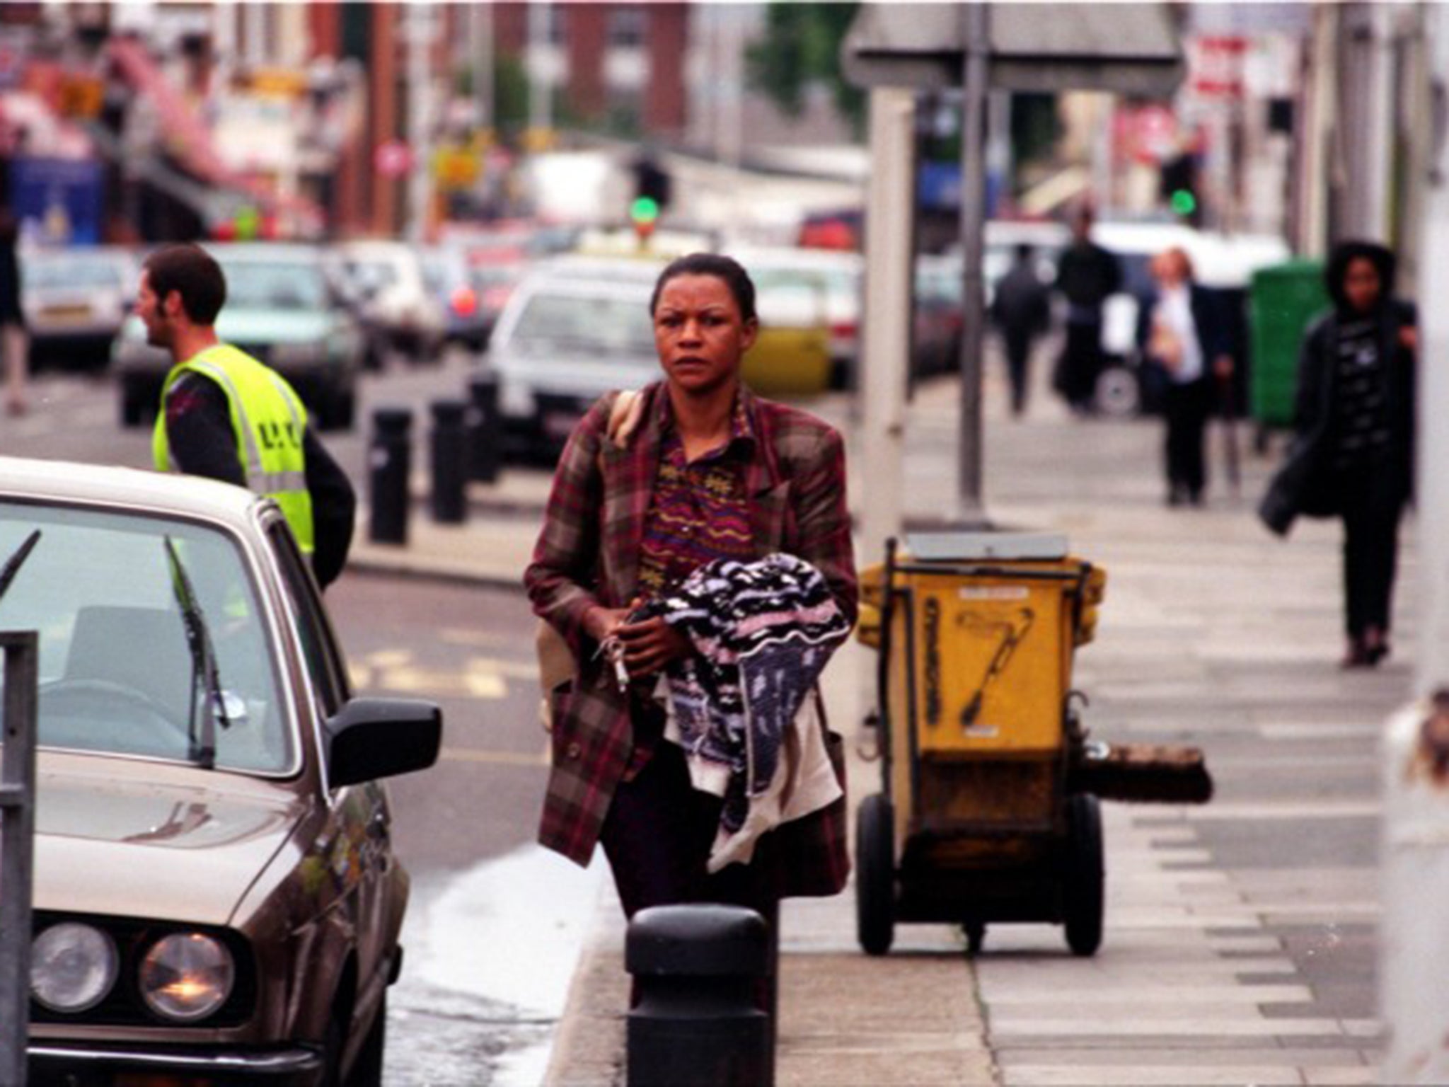
<instances>
[{"instance_id":1,"label":"pale roof edge of the brown foreground car","mask_svg":"<svg viewBox=\"0 0 1449 1087\"><path fill-rule=\"evenodd\" d=\"M12 500L110 506L210 520L233 529L249 525L252 510L265 501L243 487L200 475L0 457L0 501Z\"/></svg>"}]
</instances>

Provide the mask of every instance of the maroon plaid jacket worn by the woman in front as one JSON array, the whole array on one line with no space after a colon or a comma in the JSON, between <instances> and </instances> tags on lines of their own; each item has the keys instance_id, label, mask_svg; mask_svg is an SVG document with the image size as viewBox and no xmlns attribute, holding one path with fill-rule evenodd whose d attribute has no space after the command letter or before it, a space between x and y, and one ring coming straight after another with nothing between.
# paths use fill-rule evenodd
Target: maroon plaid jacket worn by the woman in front
<instances>
[{"instance_id":1,"label":"maroon plaid jacket worn by the woman in front","mask_svg":"<svg viewBox=\"0 0 1449 1087\"><path fill-rule=\"evenodd\" d=\"M578 674L552 694L552 774L539 841L588 864L633 746L627 700L594 658L582 632L594 604L625 607L635 594L653 477L659 462L662 383L642 390L636 433L619 448L607 439L611 396L580 420L554 472L554 488L533 562L523 575L533 610L564 635ZM856 612L855 559L845 501L840 435L806 412L740 388L755 432L745 470L756 558L798 555L826 578L846 617ZM839 738L832 738L832 748ZM833 755L839 755L833 751ZM836 759L842 774L843 762ZM756 862L775 868L781 896L833 894L845 886L845 801L785 825Z\"/></svg>"}]
</instances>

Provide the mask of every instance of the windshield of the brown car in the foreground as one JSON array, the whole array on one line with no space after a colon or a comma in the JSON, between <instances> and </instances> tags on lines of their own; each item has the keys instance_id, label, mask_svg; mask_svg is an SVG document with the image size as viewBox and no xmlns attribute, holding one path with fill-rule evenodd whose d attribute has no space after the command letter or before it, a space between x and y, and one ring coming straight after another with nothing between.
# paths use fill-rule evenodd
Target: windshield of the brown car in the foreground
<instances>
[{"instance_id":1,"label":"windshield of the brown car in the foreground","mask_svg":"<svg viewBox=\"0 0 1449 1087\"><path fill-rule=\"evenodd\" d=\"M194 678L170 539L216 654L216 767L293 770L271 638L230 536L164 517L0 503L0 564L36 530L0 597L0 629L39 632L42 746L194 761L191 732L213 700Z\"/></svg>"}]
</instances>

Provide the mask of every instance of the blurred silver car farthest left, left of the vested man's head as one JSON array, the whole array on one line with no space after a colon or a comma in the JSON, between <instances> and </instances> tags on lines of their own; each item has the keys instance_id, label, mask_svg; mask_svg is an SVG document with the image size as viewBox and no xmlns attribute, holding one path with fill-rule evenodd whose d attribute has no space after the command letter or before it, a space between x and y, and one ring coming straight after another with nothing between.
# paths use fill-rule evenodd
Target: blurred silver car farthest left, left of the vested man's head
<instances>
[{"instance_id":1,"label":"blurred silver car farthest left, left of the vested man's head","mask_svg":"<svg viewBox=\"0 0 1449 1087\"><path fill-rule=\"evenodd\" d=\"M20 309L30 368L104 370L136 294L136 261L119 246L20 251Z\"/></svg>"}]
</instances>

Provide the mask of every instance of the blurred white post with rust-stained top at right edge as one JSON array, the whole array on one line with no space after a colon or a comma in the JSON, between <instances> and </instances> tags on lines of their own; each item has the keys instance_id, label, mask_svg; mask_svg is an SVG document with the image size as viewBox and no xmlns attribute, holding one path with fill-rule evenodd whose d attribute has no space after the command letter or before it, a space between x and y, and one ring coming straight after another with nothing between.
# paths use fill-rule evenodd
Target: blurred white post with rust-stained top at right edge
<instances>
[{"instance_id":1,"label":"blurred white post with rust-stained top at right edge","mask_svg":"<svg viewBox=\"0 0 1449 1087\"><path fill-rule=\"evenodd\" d=\"M1382 765L1377 1083L1449 1083L1449 691L1388 720Z\"/></svg>"}]
</instances>

